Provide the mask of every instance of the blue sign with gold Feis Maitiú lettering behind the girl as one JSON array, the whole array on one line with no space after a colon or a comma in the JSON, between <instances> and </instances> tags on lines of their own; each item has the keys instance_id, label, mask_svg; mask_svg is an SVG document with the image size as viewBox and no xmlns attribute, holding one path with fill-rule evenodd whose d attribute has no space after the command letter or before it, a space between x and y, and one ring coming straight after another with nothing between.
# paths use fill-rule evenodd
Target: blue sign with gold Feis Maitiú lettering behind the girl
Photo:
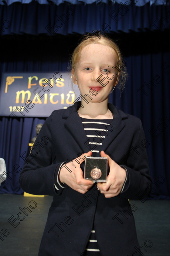
<instances>
[{"instance_id":1,"label":"blue sign with gold Feis Maiti\u00fa lettering behind the girl","mask_svg":"<svg viewBox=\"0 0 170 256\"><path fill-rule=\"evenodd\" d=\"M73 91L71 84L66 72L2 73L0 116L47 117L67 108L80 95L78 86L73 84Z\"/></svg>"}]
</instances>

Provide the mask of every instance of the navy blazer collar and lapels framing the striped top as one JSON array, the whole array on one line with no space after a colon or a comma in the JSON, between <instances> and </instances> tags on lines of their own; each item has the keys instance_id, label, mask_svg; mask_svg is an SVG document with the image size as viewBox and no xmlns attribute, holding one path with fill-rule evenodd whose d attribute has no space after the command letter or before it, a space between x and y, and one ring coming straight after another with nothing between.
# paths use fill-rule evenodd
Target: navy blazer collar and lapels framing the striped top
<instances>
[{"instance_id":1,"label":"navy blazer collar and lapels framing the striped top","mask_svg":"<svg viewBox=\"0 0 170 256\"><path fill-rule=\"evenodd\" d=\"M78 101L75 102L73 106L66 108L62 118L66 119L66 129L72 134L77 144L79 144L82 152L85 153L90 151L90 149L86 146L86 141L88 140L88 138L84 131L81 118L77 112L77 110L81 106L80 104L81 101ZM100 151L105 151L107 147L110 145L110 143L112 143L114 138L121 132L121 130L125 126L125 122L123 121L123 119L127 118L127 115L121 110L117 110L117 108L114 105L109 103L108 108L112 113L114 113L114 117L111 123L113 130L111 132L108 132L108 135L105 136ZM100 152L98 153L98 156L100 156Z\"/></svg>"}]
</instances>

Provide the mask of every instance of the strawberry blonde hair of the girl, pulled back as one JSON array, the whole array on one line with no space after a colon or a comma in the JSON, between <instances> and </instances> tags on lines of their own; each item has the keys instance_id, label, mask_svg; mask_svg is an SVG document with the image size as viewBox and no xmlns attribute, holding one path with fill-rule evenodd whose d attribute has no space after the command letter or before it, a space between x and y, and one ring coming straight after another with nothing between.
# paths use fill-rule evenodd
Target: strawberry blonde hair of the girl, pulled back
<instances>
[{"instance_id":1,"label":"strawberry blonde hair of the girl, pulled back","mask_svg":"<svg viewBox=\"0 0 170 256\"><path fill-rule=\"evenodd\" d=\"M122 55L121 55L121 51L120 51L119 47L117 46L117 44L110 37L108 37L106 35L103 35L103 34L100 34L100 33L96 33L94 35L89 33L89 34L83 35L83 38L80 38L80 43L74 49L74 51L71 55L71 58L70 58L70 69L73 72L73 78L76 76L76 65L77 65L77 62L80 60L82 49L86 45L94 44L94 43L109 46L116 53L117 63L120 63L120 62L124 63L123 66L121 66L119 64L117 65L118 69L120 69L120 71L118 73L118 75L120 75L120 76L117 77L118 88L122 92L124 90L124 85L125 85L125 82L127 80L128 74L127 74L127 69L126 69L125 62L124 62L124 60L122 58Z\"/></svg>"}]
</instances>

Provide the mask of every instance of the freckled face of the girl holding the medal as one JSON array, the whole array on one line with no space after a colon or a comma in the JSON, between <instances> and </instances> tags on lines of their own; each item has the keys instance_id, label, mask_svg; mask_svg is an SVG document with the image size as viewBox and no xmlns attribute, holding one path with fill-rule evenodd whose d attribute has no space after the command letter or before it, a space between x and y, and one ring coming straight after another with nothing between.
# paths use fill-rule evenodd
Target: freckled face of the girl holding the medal
<instances>
[{"instance_id":1,"label":"freckled face of the girl holding the medal","mask_svg":"<svg viewBox=\"0 0 170 256\"><path fill-rule=\"evenodd\" d=\"M108 66L110 68L117 66L117 61L116 52L107 45L91 43L82 49L80 60L76 63L76 76L73 82L78 85L82 96L88 94L92 98L91 100L86 96L87 101L93 103L108 101L109 94L118 79L114 76L112 80L109 80L106 78L106 73L109 71ZM116 73L118 75L118 71ZM109 81L105 87L97 81L100 75L102 75L100 81L105 78L103 84ZM108 73L108 76L111 78L113 73ZM90 91L91 88L95 88L96 91ZM90 92L95 96L92 96Z\"/></svg>"}]
</instances>

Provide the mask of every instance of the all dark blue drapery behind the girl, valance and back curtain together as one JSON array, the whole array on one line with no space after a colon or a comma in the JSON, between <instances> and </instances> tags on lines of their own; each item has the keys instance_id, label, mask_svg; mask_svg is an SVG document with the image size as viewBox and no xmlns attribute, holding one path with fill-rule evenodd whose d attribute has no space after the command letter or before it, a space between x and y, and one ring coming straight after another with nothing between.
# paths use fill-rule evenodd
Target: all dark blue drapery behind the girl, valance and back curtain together
<instances>
[{"instance_id":1,"label":"all dark blue drapery behind the girl, valance and back curtain together","mask_svg":"<svg viewBox=\"0 0 170 256\"><path fill-rule=\"evenodd\" d=\"M117 16L121 20L116 23L109 14L113 10L118 13L120 6L111 2L85 6L40 5L36 1L0 5L0 76L2 72L15 71L66 71L80 34L99 30L107 23L110 37L121 48L129 74L123 93L114 90L110 102L142 120L149 145L151 176L159 186L151 198L170 199L170 19L167 18L170 9L149 3L129 7L126 15ZM68 8L74 10L74 15L52 36L45 26L50 22L53 25L56 14L61 16ZM159 19L155 23L157 27L151 26L156 19ZM10 23L9 28L8 23L3 23L5 20ZM36 135L35 126L44 121L40 118L0 117L0 157L5 159L7 172L13 172L9 174L11 179L7 177L5 180L7 184L1 184L0 193L23 193L18 182L20 172L14 172L13 168L18 165L19 171L23 167L24 160L20 155L29 153L28 143ZM158 182L159 176L165 178L163 184Z\"/></svg>"}]
</instances>

